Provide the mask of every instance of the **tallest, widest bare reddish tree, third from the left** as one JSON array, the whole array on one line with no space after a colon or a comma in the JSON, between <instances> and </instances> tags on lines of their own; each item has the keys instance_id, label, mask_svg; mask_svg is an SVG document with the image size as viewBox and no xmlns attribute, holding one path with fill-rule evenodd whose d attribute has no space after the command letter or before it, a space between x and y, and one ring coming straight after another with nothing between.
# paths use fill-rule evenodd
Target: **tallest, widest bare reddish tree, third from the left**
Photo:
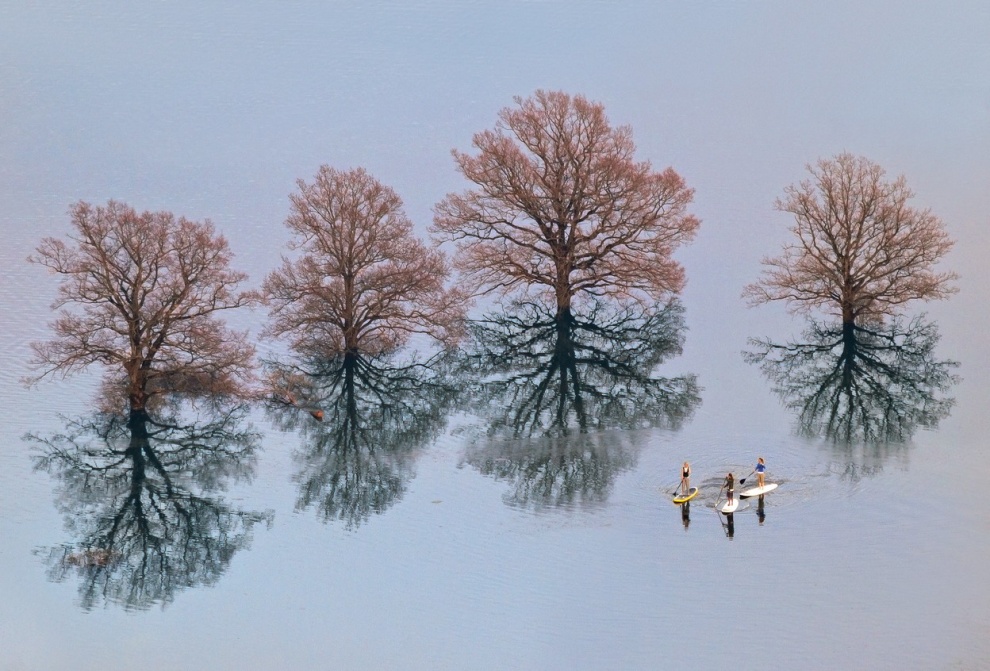
<instances>
[{"instance_id":1,"label":"tallest, widest bare reddish tree, third from the left","mask_svg":"<svg viewBox=\"0 0 990 671\"><path fill-rule=\"evenodd\" d=\"M628 126L600 103L562 92L515 98L476 156L454 151L476 188L435 208L434 231L456 241L455 266L478 293L542 289L558 316L575 296L669 298L684 285L671 257L699 220L673 169L633 159Z\"/></svg>"}]
</instances>

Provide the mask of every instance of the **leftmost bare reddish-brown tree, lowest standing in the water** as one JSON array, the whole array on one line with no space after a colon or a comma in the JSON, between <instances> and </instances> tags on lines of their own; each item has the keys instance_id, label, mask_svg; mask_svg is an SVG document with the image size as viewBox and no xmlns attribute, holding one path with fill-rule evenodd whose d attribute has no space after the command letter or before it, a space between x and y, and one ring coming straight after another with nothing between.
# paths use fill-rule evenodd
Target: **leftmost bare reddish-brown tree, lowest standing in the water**
<instances>
[{"instance_id":1,"label":"leftmost bare reddish-brown tree, lowest standing in the water","mask_svg":"<svg viewBox=\"0 0 990 671\"><path fill-rule=\"evenodd\" d=\"M235 292L246 275L230 269L213 225L115 201L69 212L68 240L45 238L28 259L62 276L55 337L32 345L42 371L32 381L100 364L132 417L161 395L246 393L254 349L216 313L252 299Z\"/></svg>"}]
</instances>

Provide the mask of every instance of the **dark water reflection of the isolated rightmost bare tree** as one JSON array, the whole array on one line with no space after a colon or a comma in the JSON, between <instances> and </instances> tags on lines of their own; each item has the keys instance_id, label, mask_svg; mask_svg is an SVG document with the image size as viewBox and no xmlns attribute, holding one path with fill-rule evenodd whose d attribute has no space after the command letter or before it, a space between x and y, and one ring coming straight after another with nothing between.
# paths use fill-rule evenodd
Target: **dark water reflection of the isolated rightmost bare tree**
<instances>
[{"instance_id":1,"label":"dark water reflection of the isolated rightmost bare tree","mask_svg":"<svg viewBox=\"0 0 990 671\"><path fill-rule=\"evenodd\" d=\"M759 364L774 392L799 411L801 431L837 443L908 440L933 428L954 400L940 397L956 377L954 361L936 361L938 328L916 317L869 328L812 324L803 343L754 339L744 354Z\"/></svg>"}]
</instances>

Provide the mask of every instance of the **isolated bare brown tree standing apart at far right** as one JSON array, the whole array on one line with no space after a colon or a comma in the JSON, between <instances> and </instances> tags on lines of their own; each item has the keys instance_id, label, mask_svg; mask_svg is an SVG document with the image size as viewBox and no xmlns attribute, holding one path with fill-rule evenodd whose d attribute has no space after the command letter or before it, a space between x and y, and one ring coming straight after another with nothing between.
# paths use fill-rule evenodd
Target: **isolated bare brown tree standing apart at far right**
<instances>
[{"instance_id":1,"label":"isolated bare brown tree standing apart at far right","mask_svg":"<svg viewBox=\"0 0 990 671\"><path fill-rule=\"evenodd\" d=\"M935 270L953 242L938 217L908 206L914 194L903 177L887 182L879 165L846 153L808 171L811 179L776 202L794 215L797 241L763 260L762 278L744 291L751 304L782 300L796 312L824 309L855 324L956 291L956 274Z\"/></svg>"}]
</instances>

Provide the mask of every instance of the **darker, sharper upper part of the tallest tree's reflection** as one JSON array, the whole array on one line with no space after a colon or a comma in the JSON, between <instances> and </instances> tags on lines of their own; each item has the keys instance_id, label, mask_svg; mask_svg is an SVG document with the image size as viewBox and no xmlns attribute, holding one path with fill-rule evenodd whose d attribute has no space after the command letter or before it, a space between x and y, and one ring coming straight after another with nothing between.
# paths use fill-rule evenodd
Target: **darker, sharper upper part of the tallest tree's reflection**
<instances>
[{"instance_id":1,"label":"darker, sharper upper part of the tallest tree's reflection","mask_svg":"<svg viewBox=\"0 0 990 671\"><path fill-rule=\"evenodd\" d=\"M681 352L684 310L591 303L558 320L520 302L472 325L465 369L492 433L515 436L603 428L678 428L699 402L693 375L654 377Z\"/></svg>"}]
</instances>

